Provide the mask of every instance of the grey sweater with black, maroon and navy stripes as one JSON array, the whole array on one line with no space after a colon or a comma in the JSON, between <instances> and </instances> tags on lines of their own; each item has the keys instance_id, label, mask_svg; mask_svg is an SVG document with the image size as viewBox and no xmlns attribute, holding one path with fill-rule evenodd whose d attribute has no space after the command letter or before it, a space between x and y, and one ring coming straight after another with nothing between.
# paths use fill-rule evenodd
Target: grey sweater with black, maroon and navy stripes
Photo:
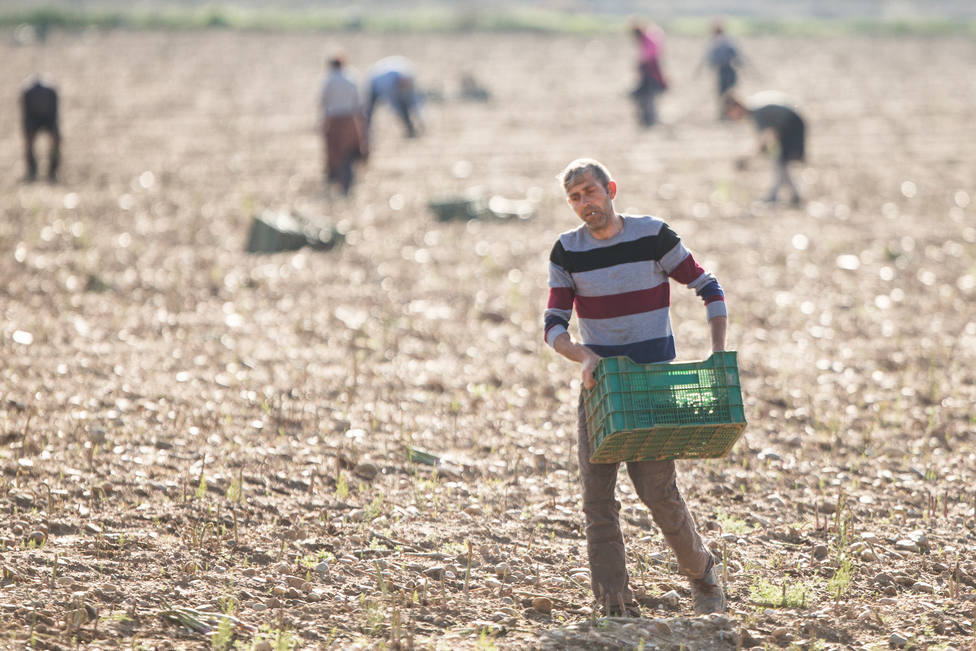
<instances>
[{"instance_id":1,"label":"grey sweater with black, maroon and navy stripes","mask_svg":"<svg viewBox=\"0 0 976 651\"><path fill-rule=\"evenodd\" d=\"M575 307L583 343L601 357L669 362L675 350L668 279L695 290L708 319L726 315L725 294L667 224L622 217L623 229L609 239L598 240L580 225L552 247L546 343L552 346L567 331Z\"/></svg>"}]
</instances>

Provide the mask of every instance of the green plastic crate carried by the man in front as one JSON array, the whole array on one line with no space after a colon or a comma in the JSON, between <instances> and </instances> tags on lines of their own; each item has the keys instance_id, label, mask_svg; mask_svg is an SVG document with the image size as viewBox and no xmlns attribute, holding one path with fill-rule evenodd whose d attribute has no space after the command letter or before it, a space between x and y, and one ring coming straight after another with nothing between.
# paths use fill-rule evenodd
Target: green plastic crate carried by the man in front
<instances>
[{"instance_id":1,"label":"green plastic crate carried by the man in front","mask_svg":"<svg viewBox=\"0 0 976 651\"><path fill-rule=\"evenodd\" d=\"M591 463L723 457L746 427L734 351L700 362L605 357L584 392Z\"/></svg>"}]
</instances>

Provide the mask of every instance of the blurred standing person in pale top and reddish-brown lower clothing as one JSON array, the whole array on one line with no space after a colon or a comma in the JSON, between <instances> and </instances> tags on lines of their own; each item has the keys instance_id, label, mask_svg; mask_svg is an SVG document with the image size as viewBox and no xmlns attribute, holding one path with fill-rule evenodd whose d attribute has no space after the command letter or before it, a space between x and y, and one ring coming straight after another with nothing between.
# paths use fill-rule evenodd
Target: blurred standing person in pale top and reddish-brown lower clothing
<instances>
[{"instance_id":1,"label":"blurred standing person in pale top and reddish-brown lower clothing","mask_svg":"<svg viewBox=\"0 0 976 651\"><path fill-rule=\"evenodd\" d=\"M363 105L356 82L346 70L345 55L328 60L328 74L322 83L320 115L325 138L325 175L343 194L352 187L353 167L369 155Z\"/></svg>"}]
</instances>

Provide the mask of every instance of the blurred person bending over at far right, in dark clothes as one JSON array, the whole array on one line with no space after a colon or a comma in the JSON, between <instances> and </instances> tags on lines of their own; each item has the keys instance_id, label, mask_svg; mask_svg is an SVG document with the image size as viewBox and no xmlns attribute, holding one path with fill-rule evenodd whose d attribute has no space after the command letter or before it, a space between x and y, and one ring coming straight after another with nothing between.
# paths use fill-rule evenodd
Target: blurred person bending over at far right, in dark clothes
<instances>
[{"instance_id":1,"label":"blurred person bending over at far right, in dark clothes","mask_svg":"<svg viewBox=\"0 0 976 651\"><path fill-rule=\"evenodd\" d=\"M776 201L779 189L785 185L792 193L792 204L799 205L800 192L790 178L789 164L791 161L802 161L805 157L806 126L800 114L783 94L773 91L757 93L744 104L727 94L724 109L725 115L733 120L747 116L751 118L758 129L758 153L776 156L773 187L766 201Z\"/></svg>"}]
</instances>

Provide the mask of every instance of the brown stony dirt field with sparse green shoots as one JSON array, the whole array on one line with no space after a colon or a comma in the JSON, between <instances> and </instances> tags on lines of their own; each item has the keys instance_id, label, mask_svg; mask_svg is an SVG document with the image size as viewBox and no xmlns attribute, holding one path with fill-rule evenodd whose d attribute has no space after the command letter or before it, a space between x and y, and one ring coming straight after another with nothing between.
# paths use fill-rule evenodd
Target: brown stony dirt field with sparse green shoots
<instances>
[{"instance_id":1,"label":"brown stony dirt field with sparse green shoots","mask_svg":"<svg viewBox=\"0 0 976 651\"><path fill-rule=\"evenodd\" d=\"M745 43L742 88L810 125L791 209L754 202L768 161L734 165L754 134L714 119L697 41L669 43L665 124L642 131L623 37L2 36L3 648L976 644L976 42ZM345 200L315 132L339 44L360 70L405 54L433 91L422 138L380 109ZM57 185L20 181L35 70L62 91ZM465 72L490 103L459 99ZM592 614L577 370L541 334L577 223L554 177L581 155L728 296L750 423L679 463L728 617L692 616L624 474L644 617ZM535 218L428 210L474 186ZM248 255L264 209L345 244ZM679 358L706 356L700 301L672 297Z\"/></svg>"}]
</instances>

